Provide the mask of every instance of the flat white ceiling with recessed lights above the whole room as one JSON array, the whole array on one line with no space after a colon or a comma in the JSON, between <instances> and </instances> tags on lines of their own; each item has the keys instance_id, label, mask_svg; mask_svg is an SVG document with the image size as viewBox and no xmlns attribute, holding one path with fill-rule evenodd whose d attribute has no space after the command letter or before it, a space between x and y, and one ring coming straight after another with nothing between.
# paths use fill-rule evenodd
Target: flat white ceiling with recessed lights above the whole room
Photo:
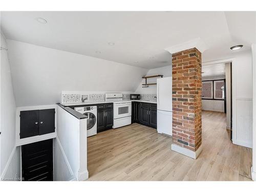
<instances>
[{"instance_id":1,"label":"flat white ceiling with recessed lights above the whole room","mask_svg":"<svg viewBox=\"0 0 256 192\"><path fill-rule=\"evenodd\" d=\"M250 49L254 17L255 12L1 12L1 27L8 39L154 69L170 65L165 48L198 37L208 49L203 61L230 53L233 45Z\"/></svg>"}]
</instances>

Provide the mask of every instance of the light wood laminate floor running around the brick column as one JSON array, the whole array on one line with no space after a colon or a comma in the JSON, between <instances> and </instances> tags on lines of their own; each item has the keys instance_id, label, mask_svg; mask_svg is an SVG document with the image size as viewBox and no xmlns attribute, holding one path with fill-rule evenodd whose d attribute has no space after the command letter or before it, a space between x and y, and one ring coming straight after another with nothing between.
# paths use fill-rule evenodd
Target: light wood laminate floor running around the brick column
<instances>
[{"instance_id":1,"label":"light wood laminate floor running around the brick column","mask_svg":"<svg viewBox=\"0 0 256 192\"><path fill-rule=\"evenodd\" d=\"M88 138L89 180L250 181L252 150L232 144L229 135L224 113L203 111L203 151L195 160L144 125L101 132Z\"/></svg>"}]
</instances>

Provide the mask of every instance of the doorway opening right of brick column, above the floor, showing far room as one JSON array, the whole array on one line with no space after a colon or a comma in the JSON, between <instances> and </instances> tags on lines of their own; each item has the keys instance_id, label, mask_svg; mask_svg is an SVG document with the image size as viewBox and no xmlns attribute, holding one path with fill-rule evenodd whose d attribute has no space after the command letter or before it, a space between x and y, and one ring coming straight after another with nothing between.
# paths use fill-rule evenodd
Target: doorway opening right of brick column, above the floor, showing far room
<instances>
[{"instance_id":1,"label":"doorway opening right of brick column, above the floor, showing far room","mask_svg":"<svg viewBox=\"0 0 256 192\"><path fill-rule=\"evenodd\" d=\"M232 63L202 66L202 110L220 115L232 140Z\"/></svg>"}]
</instances>

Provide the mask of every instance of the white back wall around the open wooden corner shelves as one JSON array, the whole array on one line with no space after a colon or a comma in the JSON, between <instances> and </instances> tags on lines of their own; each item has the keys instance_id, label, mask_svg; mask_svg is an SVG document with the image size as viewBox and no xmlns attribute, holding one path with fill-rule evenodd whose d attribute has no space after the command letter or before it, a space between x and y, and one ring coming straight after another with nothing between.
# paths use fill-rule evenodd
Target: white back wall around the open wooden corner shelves
<instances>
[{"instance_id":1,"label":"white back wall around the open wooden corner shelves","mask_svg":"<svg viewBox=\"0 0 256 192\"><path fill-rule=\"evenodd\" d=\"M170 57L172 57L172 55L170 55ZM151 76L151 75L163 75L163 77L170 77L172 76L172 66L151 69L147 72L146 76ZM156 78L147 79L147 83L154 83L154 82L157 82ZM145 83L145 79L142 79L135 93L157 94L157 85L151 85L151 86L148 86L148 88L142 88L143 87L142 84L144 83Z\"/></svg>"}]
</instances>

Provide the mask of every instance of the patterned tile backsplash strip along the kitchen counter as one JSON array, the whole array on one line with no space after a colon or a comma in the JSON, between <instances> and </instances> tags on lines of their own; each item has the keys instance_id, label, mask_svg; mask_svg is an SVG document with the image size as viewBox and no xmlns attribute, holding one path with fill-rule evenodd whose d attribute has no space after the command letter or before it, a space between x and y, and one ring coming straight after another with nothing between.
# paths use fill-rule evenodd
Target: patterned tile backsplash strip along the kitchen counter
<instances>
[{"instance_id":1,"label":"patterned tile backsplash strip along the kitchen counter","mask_svg":"<svg viewBox=\"0 0 256 192\"><path fill-rule=\"evenodd\" d=\"M157 101L156 94L141 94L141 100ZM124 100L130 99L130 94L123 94ZM89 101L105 101L105 94L89 94ZM62 103L81 102L81 94L62 94Z\"/></svg>"}]
</instances>

